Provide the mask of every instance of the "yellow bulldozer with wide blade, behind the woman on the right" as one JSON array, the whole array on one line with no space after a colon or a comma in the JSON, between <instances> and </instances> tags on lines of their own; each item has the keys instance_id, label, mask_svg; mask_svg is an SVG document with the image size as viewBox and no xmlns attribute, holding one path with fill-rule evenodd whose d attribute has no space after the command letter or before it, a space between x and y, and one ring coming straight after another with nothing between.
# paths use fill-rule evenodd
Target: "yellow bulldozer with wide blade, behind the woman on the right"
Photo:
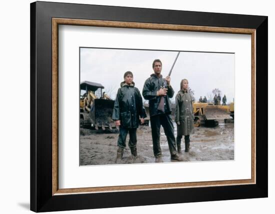
<instances>
[{"instance_id":1,"label":"yellow bulldozer with wide blade, behind the woman on the right","mask_svg":"<svg viewBox=\"0 0 275 214\"><path fill-rule=\"evenodd\" d=\"M214 105L210 102L193 102L194 125L217 126L218 122L234 118L234 102L230 105Z\"/></svg>"}]
</instances>

